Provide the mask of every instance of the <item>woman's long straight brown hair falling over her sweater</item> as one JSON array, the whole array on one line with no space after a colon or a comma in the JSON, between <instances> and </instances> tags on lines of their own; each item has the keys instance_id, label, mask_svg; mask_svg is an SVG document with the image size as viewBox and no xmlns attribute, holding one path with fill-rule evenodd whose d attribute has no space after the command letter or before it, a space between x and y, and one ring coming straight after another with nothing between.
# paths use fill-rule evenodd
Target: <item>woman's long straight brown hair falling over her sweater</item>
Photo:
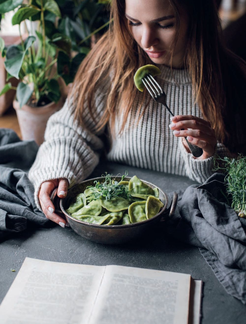
<instances>
[{"instance_id":1,"label":"woman's long straight brown hair falling over her sweater","mask_svg":"<svg viewBox=\"0 0 246 324\"><path fill-rule=\"evenodd\" d=\"M204 118L215 129L219 142L234 153L246 154L246 136L242 125L242 121L246 120L245 62L223 46L213 0L169 2L177 23L174 45L179 33L180 4L189 15L184 65L192 80L194 103L198 102ZM133 76L140 66L151 61L129 32L125 1L112 0L110 18L114 18L113 24L110 24L109 30L80 65L70 93L70 96L76 94L73 96L74 104L76 100L75 118L83 124L86 105L95 121L95 88L111 80L104 114L100 121L96 121L95 131L102 129L108 122L113 131L116 114L124 116L122 131L133 102L139 100L140 111L147 95L145 91L140 93L134 86ZM122 104L119 105L119 102Z\"/></svg>"}]
</instances>

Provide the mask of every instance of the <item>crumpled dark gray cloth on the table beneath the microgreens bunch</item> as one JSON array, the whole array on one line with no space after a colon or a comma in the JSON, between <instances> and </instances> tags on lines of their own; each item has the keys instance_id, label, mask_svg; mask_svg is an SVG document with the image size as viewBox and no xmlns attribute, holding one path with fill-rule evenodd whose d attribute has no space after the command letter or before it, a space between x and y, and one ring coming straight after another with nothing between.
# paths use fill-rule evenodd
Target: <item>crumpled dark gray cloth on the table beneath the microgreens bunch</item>
<instances>
[{"instance_id":1,"label":"crumpled dark gray cloth on the table beneath the microgreens bunch","mask_svg":"<svg viewBox=\"0 0 246 324\"><path fill-rule=\"evenodd\" d=\"M168 228L199 247L227 293L246 304L246 219L228 204L224 178L215 173L202 185L179 192L182 199Z\"/></svg>"}]
</instances>

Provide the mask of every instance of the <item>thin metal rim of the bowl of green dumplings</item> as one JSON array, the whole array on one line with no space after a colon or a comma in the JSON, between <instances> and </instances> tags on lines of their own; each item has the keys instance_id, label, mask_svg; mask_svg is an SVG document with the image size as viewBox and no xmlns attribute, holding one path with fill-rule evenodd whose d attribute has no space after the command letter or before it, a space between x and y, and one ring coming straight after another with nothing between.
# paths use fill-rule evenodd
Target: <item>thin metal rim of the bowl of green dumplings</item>
<instances>
[{"instance_id":1,"label":"thin metal rim of the bowl of green dumplings","mask_svg":"<svg viewBox=\"0 0 246 324\"><path fill-rule=\"evenodd\" d=\"M114 176L113 176L114 177ZM74 185L73 187L71 187L68 191L72 190L73 188L85 183L85 182L88 182L88 181L95 181L95 180L99 180L99 179L103 179L105 177L96 177L96 178L91 178L91 179L86 179L84 181L81 181L80 183L77 183L76 185ZM117 176L115 176L115 178L117 178ZM120 177L119 177L120 178ZM131 179L132 177L125 177L123 181L128 181L128 180L125 180L125 179ZM134 227L134 226L141 226L141 225L145 225L147 222L151 222L151 221L154 221L156 218L160 217L164 211L166 210L167 208L167 205L168 205L168 196L167 194L162 191L161 188L159 188L158 186L154 185L153 183L149 182L149 181L146 181L146 180L142 180L140 179L141 181L143 181L144 183L146 184L151 184L152 186L154 186L155 188L157 188L159 191L162 192L163 196L165 197L165 204L164 206L162 207L162 209L160 210L160 212L158 214L156 214L155 216L149 218L149 219L146 219L145 221L141 221L141 222L137 222L137 223L131 223L131 224L124 224L124 225L99 225L99 224L93 224L93 223L87 223L87 222L82 222L76 218L73 218L72 216L70 216L66 211L65 209L63 208L63 200L66 199L65 198L61 198L60 200L60 208L61 208L61 211L62 213L67 217L69 218L72 222L75 222L75 223L78 223L78 224L82 224L82 225L85 225L85 226L88 226L88 227L95 227L95 228L104 228L104 229L124 229L124 228L129 228L129 227ZM162 202L163 203L163 202Z\"/></svg>"}]
</instances>

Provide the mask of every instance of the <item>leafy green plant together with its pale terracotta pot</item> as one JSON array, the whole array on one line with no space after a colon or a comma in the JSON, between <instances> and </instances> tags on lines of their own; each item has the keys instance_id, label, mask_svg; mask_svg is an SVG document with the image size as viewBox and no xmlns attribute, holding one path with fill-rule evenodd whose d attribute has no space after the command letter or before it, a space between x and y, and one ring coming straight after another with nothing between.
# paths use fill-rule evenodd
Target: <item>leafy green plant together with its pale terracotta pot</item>
<instances>
[{"instance_id":1,"label":"leafy green plant together with its pale terracotta pot","mask_svg":"<svg viewBox=\"0 0 246 324\"><path fill-rule=\"evenodd\" d=\"M10 4L6 0L0 4L0 14L18 7L12 24L20 25L23 22L28 30L28 37L25 40L21 38L21 45L6 48L0 38L0 51L5 57L7 80L10 77L20 80L17 87L7 83L0 95L16 89L13 106L17 112L22 138L34 139L39 145L44 140L50 115L63 104L64 98L61 97L58 80L62 78L66 85L73 82L78 66L90 50L90 37L108 24L95 29L97 16L102 6L105 6L100 1L95 3L83 0L78 5L75 0L68 2L67 8L73 9L70 18L64 14L65 11L68 12L64 6L66 1L30 0L26 3L25 0L16 0ZM62 15L60 8L63 10ZM92 19L89 25L88 19ZM32 24L29 24L30 30L28 29L26 20L35 21L35 32ZM86 46L80 46L80 43Z\"/></svg>"}]
</instances>

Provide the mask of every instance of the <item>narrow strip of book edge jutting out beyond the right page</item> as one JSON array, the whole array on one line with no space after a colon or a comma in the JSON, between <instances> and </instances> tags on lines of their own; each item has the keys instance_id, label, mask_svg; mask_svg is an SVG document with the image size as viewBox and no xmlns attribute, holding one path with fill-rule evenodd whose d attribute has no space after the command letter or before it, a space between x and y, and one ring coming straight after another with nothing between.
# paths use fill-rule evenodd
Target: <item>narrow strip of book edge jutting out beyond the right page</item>
<instances>
[{"instance_id":1,"label":"narrow strip of book edge jutting out beyond the right page","mask_svg":"<svg viewBox=\"0 0 246 324\"><path fill-rule=\"evenodd\" d=\"M189 324L199 324L201 319L202 281L191 280L189 302Z\"/></svg>"}]
</instances>

